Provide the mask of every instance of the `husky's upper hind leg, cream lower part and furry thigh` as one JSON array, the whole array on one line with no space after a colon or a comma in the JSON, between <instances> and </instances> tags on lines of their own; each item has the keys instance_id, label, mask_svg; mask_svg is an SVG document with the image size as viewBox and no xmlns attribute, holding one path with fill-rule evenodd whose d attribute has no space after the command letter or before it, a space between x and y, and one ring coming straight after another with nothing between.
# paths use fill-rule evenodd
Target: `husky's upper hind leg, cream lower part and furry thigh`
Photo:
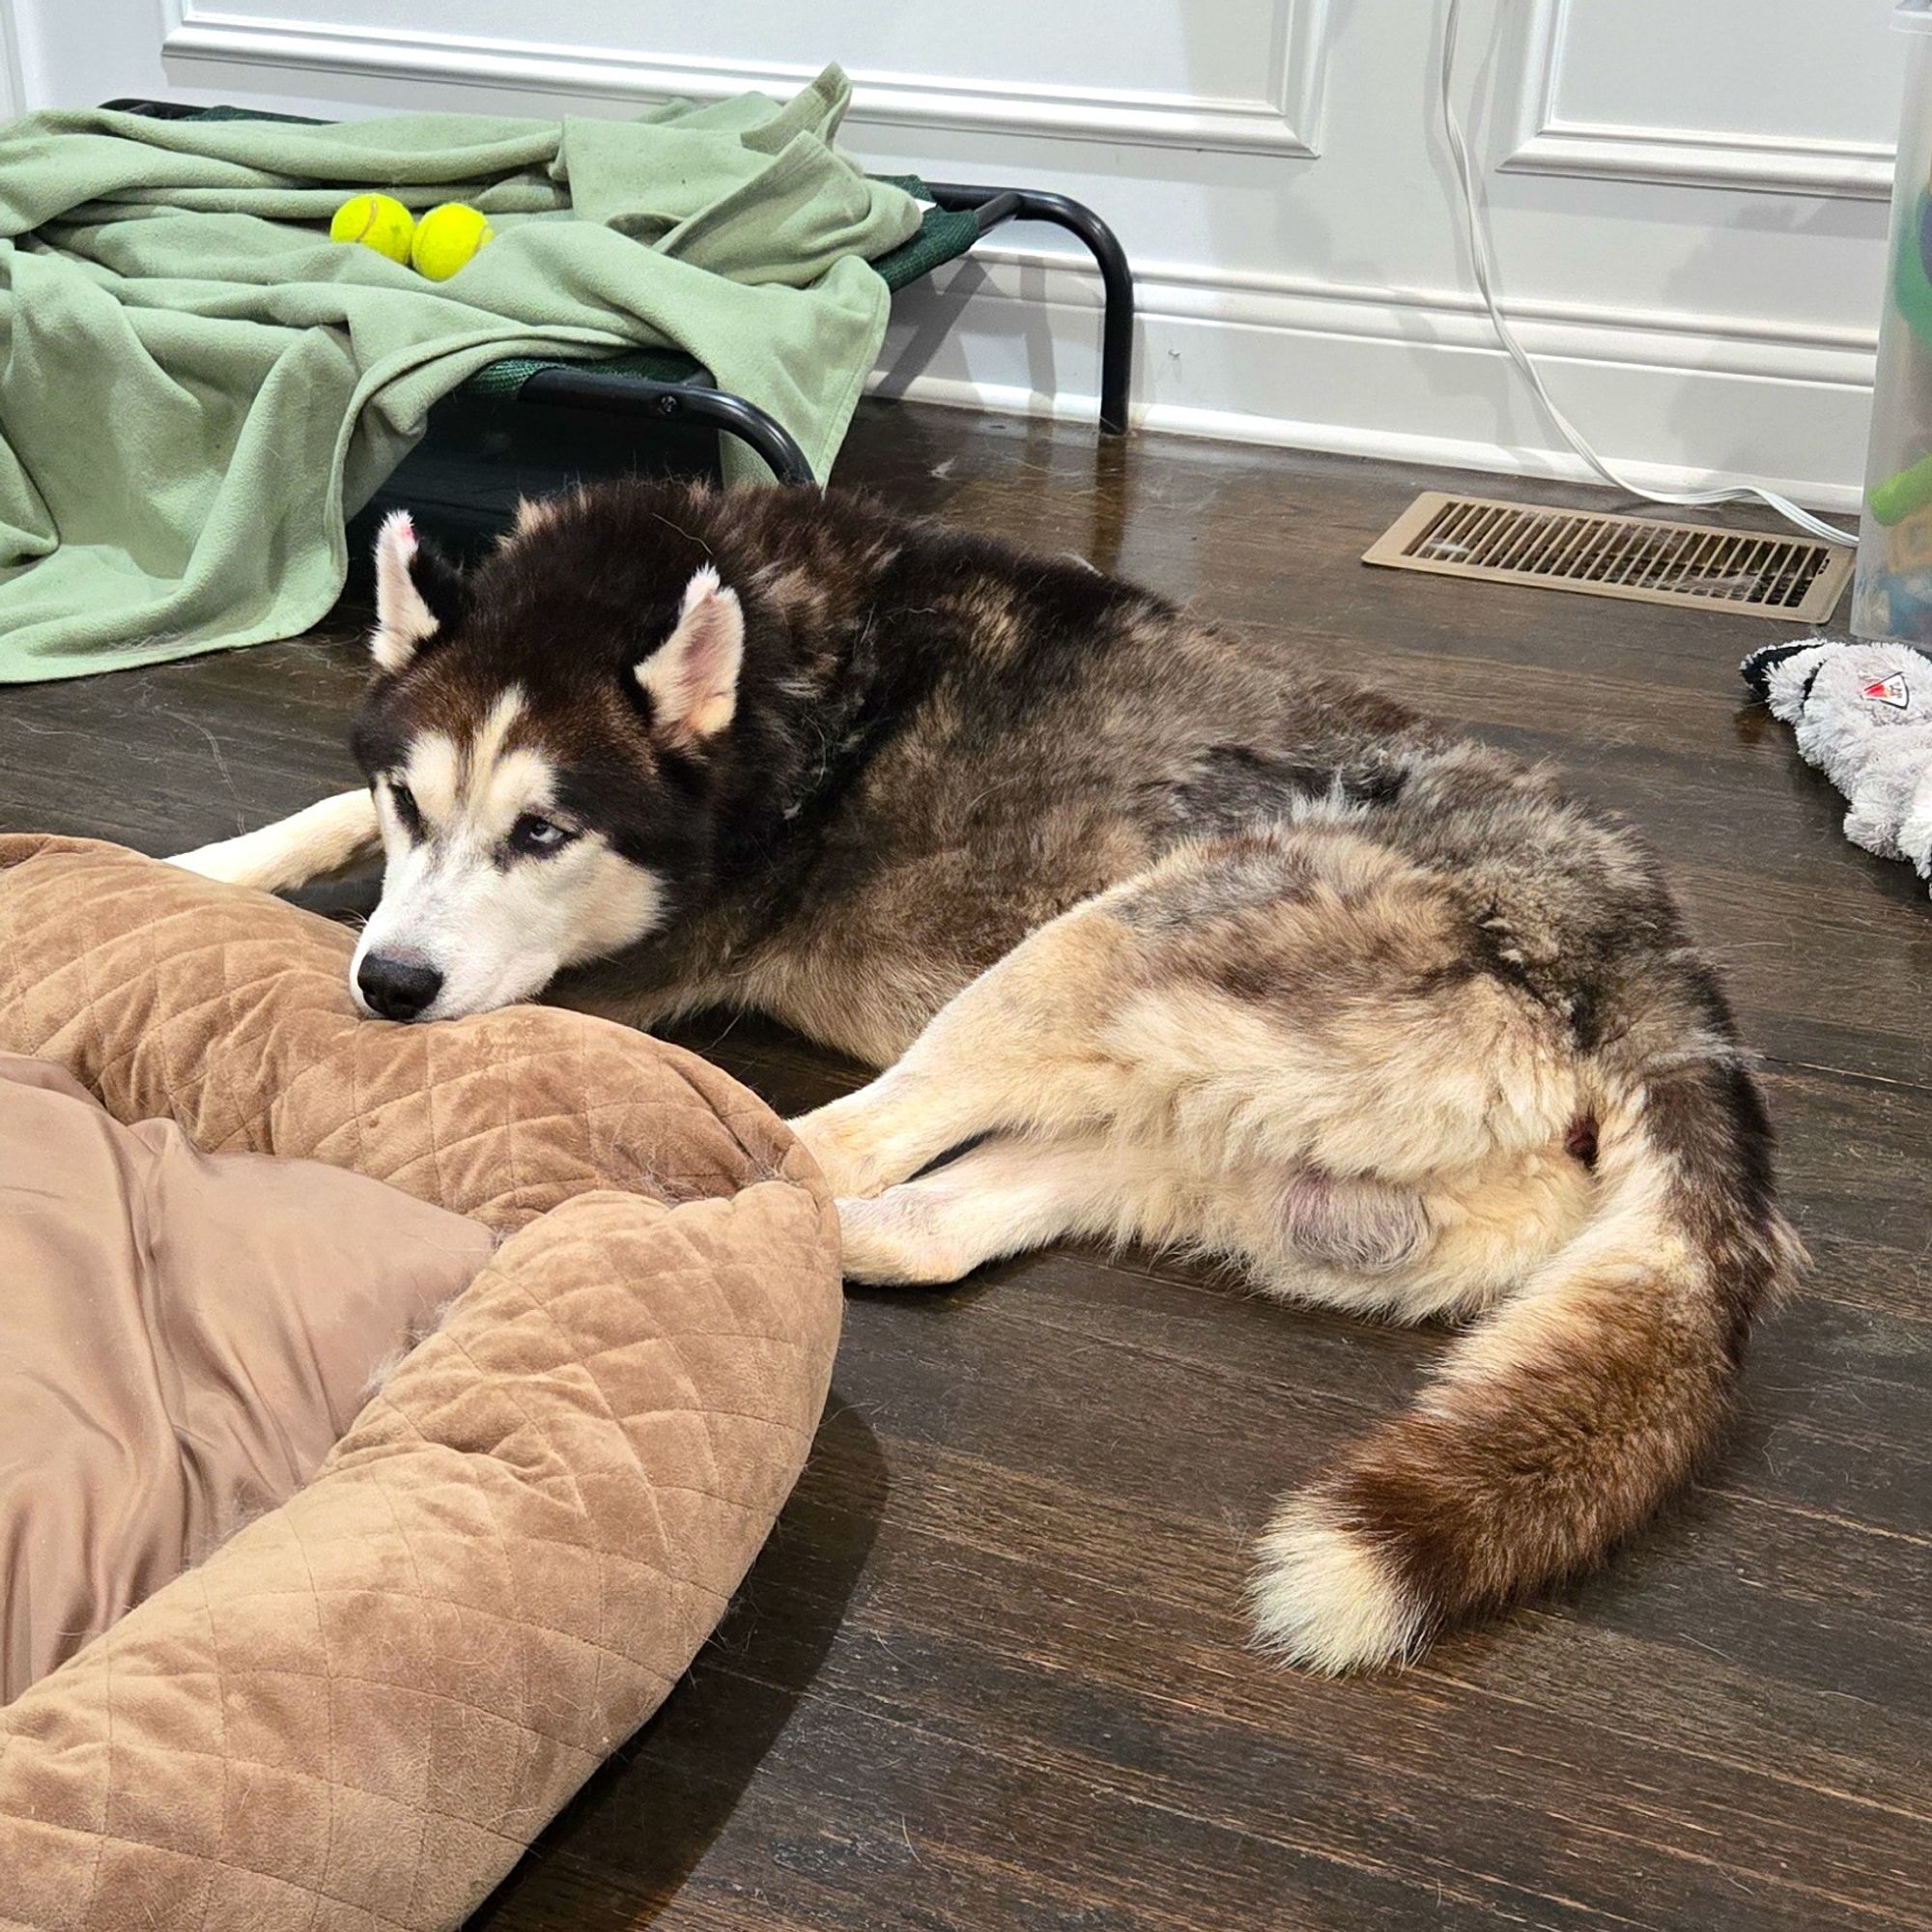
<instances>
[{"instance_id":1,"label":"husky's upper hind leg, cream lower part and furry thigh","mask_svg":"<svg viewBox=\"0 0 1932 1932\"><path fill-rule=\"evenodd\" d=\"M1575 1080L1548 1032L1482 970L1441 881L1347 829L1271 831L1041 925L871 1086L794 1124L846 1200L981 1134L1105 1132L1198 1175L1403 1190L1565 1130Z\"/></svg>"}]
</instances>

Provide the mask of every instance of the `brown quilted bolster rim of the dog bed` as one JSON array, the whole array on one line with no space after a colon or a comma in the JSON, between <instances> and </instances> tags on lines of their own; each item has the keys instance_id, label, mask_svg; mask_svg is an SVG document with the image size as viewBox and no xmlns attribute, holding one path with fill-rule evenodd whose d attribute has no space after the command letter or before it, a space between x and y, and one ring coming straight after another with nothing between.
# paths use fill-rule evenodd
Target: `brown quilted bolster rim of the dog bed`
<instances>
[{"instance_id":1,"label":"brown quilted bolster rim of the dog bed","mask_svg":"<svg viewBox=\"0 0 1932 1932\"><path fill-rule=\"evenodd\" d=\"M582 1014L359 1020L350 947L0 837L31 1084L500 1238L301 1488L0 1710L0 1928L460 1926L663 1700L804 1463L838 1246L781 1122Z\"/></svg>"}]
</instances>

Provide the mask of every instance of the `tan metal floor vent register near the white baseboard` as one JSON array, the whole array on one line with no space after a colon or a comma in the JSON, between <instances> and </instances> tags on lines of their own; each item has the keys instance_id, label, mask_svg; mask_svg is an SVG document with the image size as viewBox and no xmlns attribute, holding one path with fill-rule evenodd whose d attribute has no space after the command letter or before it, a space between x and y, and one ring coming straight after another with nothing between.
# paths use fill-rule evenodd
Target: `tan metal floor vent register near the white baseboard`
<instances>
[{"instance_id":1,"label":"tan metal floor vent register near the white baseboard","mask_svg":"<svg viewBox=\"0 0 1932 1932\"><path fill-rule=\"evenodd\" d=\"M1851 551L1648 516L1546 510L1426 491L1364 564L1486 583L1540 583L1590 597L1694 605L1822 624L1851 576Z\"/></svg>"}]
</instances>

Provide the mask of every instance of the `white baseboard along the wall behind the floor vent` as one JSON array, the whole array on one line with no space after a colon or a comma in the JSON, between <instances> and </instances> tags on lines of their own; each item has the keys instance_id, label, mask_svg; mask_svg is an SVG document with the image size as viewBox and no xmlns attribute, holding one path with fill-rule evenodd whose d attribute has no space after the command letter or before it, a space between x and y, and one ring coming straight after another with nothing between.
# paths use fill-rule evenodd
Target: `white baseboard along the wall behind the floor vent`
<instances>
[{"instance_id":1,"label":"white baseboard along the wall behind the floor vent","mask_svg":"<svg viewBox=\"0 0 1932 1932\"><path fill-rule=\"evenodd\" d=\"M1138 274L1134 419L1146 429L1588 481L1459 294L1289 276ZM1092 419L1099 284L981 251L898 298L873 388ZM1725 317L1513 309L1565 412L1646 489L1760 483L1857 508L1874 340Z\"/></svg>"}]
</instances>

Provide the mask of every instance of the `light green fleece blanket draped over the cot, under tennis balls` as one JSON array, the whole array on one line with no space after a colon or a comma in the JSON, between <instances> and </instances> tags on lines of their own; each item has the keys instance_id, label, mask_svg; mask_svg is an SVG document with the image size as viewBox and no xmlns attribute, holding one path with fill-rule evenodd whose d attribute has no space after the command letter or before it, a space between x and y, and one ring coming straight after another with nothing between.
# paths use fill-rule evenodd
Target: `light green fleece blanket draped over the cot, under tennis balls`
<instances>
[{"instance_id":1,"label":"light green fleece blanket draped over the cot, under tennis balls","mask_svg":"<svg viewBox=\"0 0 1932 1932\"><path fill-rule=\"evenodd\" d=\"M344 518L500 355L674 344L825 475L885 332L866 263L920 224L835 151L848 95L829 68L624 122L0 129L0 682L309 628ZM497 240L427 282L330 243L361 189Z\"/></svg>"}]
</instances>

